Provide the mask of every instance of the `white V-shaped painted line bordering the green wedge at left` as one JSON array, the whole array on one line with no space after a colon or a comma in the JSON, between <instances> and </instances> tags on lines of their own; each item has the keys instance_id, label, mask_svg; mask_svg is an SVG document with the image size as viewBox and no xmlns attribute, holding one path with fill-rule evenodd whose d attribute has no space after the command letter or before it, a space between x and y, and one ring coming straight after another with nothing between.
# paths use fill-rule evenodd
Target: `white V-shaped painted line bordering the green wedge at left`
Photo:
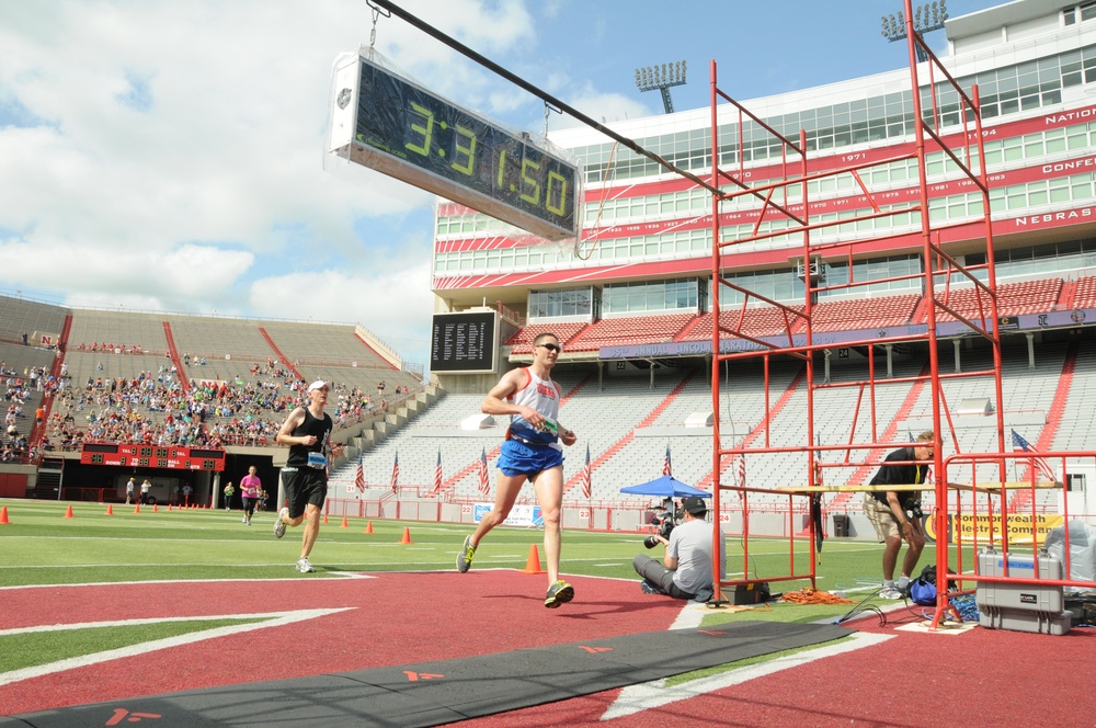
<instances>
[{"instance_id":1,"label":"white V-shaped painted line bordering the green wedge at left","mask_svg":"<svg viewBox=\"0 0 1096 728\"><path fill-rule=\"evenodd\" d=\"M91 664L99 664L101 662L107 662L110 660L118 660L126 657L134 657L136 655L145 655L147 652L155 652L157 650L168 649L170 647L179 647L181 645L192 645L194 642L199 642L206 639L216 639L218 637L227 637L229 635L237 635L244 632L253 632L255 629L265 629L267 627L279 627L282 625L293 624L295 622L316 619L317 617L327 616L329 614L335 614L338 612L345 612L352 608L355 607L344 606L340 608L330 608L330 610L297 610L294 612L272 612L272 613L259 613L259 614L222 614L220 616L203 616L203 617L180 617L180 618L167 617L163 619L123 619L113 623L85 622L81 624L62 625L62 626L52 625L47 627L30 627L25 629L5 630L0 634L48 632L58 628L83 629L96 626L139 625L139 624L151 624L157 622L185 622L185 621L196 622L203 619L267 618L267 621L258 624L252 623L252 624L230 625L226 627L216 627L214 629L205 629L203 632L195 632L187 635L179 635L176 637L153 639L152 641L141 642L138 645L130 645L128 647L119 647L117 649L105 650L103 652L81 655L80 657L67 658L65 660L57 660L56 662L49 662L47 664L38 664L33 668L23 668L22 670L0 672L0 685L10 685L11 683L16 683L23 680L30 680L32 678L41 678L43 675L53 674L55 672L64 672L65 670L75 670L76 668L85 668Z\"/></svg>"}]
</instances>

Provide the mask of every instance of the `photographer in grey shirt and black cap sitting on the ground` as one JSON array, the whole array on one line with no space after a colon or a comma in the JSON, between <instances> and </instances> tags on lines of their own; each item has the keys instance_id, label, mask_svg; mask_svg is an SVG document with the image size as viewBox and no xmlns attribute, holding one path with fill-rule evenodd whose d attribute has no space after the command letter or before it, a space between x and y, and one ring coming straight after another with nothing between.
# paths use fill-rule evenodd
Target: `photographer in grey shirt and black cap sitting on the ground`
<instances>
[{"instance_id":1,"label":"photographer in grey shirt and black cap sitting on the ground","mask_svg":"<svg viewBox=\"0 0 1096 728\"><path fill-rule=\"evenodd\" d=\"M684 521L669 530L669 538L661 534L648 536L643 545L653 548L657 544L666 547L666 555L660 564L650 556L640 554L632 559L636 573L643 577L640 589L644 594L666 594L674 599L707 601L711 599L711 533L712 526L706 521L708 507L704 500L689 496L682 504ZM720 567L719 578L727 576L727 549L722 548L723 530L719 528Z\"/></svg>"}]
</instances>

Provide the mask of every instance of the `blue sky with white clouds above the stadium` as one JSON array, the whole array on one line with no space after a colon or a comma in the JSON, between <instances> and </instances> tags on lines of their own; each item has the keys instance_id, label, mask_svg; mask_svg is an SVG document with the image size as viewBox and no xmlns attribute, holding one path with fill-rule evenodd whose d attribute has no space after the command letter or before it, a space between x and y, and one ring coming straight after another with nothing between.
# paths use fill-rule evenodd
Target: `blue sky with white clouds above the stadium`
<instances>
[{"instance_id":1,"label":"blue sky with white clouds above the stadium","mask_svg":"<svg viewBox=\"0 0 1096 728\"><path fill-rule=\"evenodd\" d=\"M682 111L711 59L738 100L905 66L901 0L396 4L609 126L662 113L640 67L686 61ZM358 323L426 368L434 196L324 164L334 60L374 27L431 91L544 132L537 98L366 0L0 0L0 294Z\"/></svg>"}]
</instances>

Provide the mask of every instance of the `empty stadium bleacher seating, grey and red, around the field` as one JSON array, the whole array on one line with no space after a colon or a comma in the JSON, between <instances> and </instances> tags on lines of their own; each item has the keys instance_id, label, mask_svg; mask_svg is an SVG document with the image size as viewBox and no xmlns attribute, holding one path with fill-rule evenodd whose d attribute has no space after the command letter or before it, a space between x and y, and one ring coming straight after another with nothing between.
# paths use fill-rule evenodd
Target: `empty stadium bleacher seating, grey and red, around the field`
<instances>
[{"instance_id":1,"label":"empty stadium bleacher seating, grey and red, around the field","mask_svg":"<svg viewBox=\"0 0 1096 728\"><path fill-rule=\"evenodd\" d=\"M1080 305L1084 295L1084 280L1078 282L1075 302ZM1062 281L1053 278L1027 284L1007 284L1001 287L1002 296L1009 302L1007 310L1041 310L1040 307L1053 306L1048 303L1055 299L1062 288ZM959 292L956 292L957 294ZM970 300L970 294L963 294ZM956 298L951 299L952 303ZM920 309L920 298L913 295L884 296L859 302L829 302L815 307L815 323L825 330L841 330L848 327L875 328L902 323L914 316ZM968 304L969 305L969 304ZM1027 308L1025 308L1027 307ZM1035 307L1034 309L1031 307ZM1004 307L1003 307L1004 308ZM10 310L22 310L19 307ZM146 376L160 377L168 375L170 382L173 361L167 356L168 342L164 339L164 321L174 335L178 353L189 354L184 362L184 376L189 380L216 382L232 386L254 387L264 382L269 386L277 384L281 396L296 401L298 393L294 382L301 382L288 369L281 372L265 371L275 356L271 342L276 350L284 352L289 360L286 366L293 365L306 378L324 378L336 383L344 393L344 399L350 393L354 397L372 396L376 398L376 386L385 380L389 391L411 380L418 384L407 373L395 371L385 356L373 350L362 338L356 335L354 327L313 327L302 323L255 322L233 319L202 317L180 317L136 314L114 314L107 311L83 312L75 310L71 314L54 311L46 316L34 306L26 307L26 316L41 320L43 329L62 327L65 317L71 316L70 337L79 340L82 345L70 346L65 355L68 366L70 396L92 383L103 379L134 379ZM567 345L568 351L582 350L585 345L596 349L608 345L604 342L642 341L644 337L652 340L703 340L710 337L711 316L674 315L666 317L640 317L642 320L630 322L626 319L609 319L607 321L587 325L570 322L561 325L534 323L521 329L510 339L507 345L513 354L520 354L523 348L529 346L533 338L544 330L557 332ZM728 310L721 314L724 326L735 328L742 311ZM772 335L785 330L784 316L774 307L745 309L744 330L752 335ZM797 325L798 326L798 325ZM0 360L9 362L9 366L22 369L24 366L48 368L53 365L56 352L48 348L22 346L18 343L18 332L31 328L22 322L9 323L10 332L15 332L16 341L0 343ZM39 330L39 329L33 329ZM104 349L103 344L115 344ZM1041 435L1043 428L1051 426L1050 401L1062 382L1062 371L1065 366L1068 350L1064 343L1046 343L1038 348L1035 368L1029 368L1028 350L1023 338L1007 340L1003 362L1003 397L1005 401L1006 430L1021 426L1030 441ZM94 348L94 350L93 350ZM941 356L941 367L951 366L949 355ZM202 364L202 359L206 363ZM932 408L927 394L921 393L910 399L910 387L905 384L888 386L887 379L898 380L913 377L924 371L927 362L925 352L910 348L895 357L894 368L890 377L881 374L882 365L877 361L877 377L874 405L875 418L870 416L868 406L863 399L860 387L846 386L865 377L863 356L854 356L854 361L844 364L834 363L830 379L813 393L814 425L813 433L820 444L837 445L845 442L870 442L884 437L890 430L894 446L901 445L911 432L923 429L931 419ZM967 346L961 352L961 366L964 371L975 371L992 366L992 357L984 348ZM1093 371L1096 369L1096 343L1083 341L1077 346L1076 372L1073 378L1073 390L1076 397L1066 400L1059 421L1053 423L1055 448L1087 448L1088 433L1094 431L1093 411L1087 407L1092 394L1088 389L1096 382ZM579 498L576 476L584 465L585 451L590 447L591 458L597 463L594 468L593 500L607 502L631 502L635 499L621 499L619 489L652 479L661 474L664 455L669 448L672 455L673 471L676 477L699 485L711 479L711 441L710 426L686 428L685 421L699 416L703 421L712 409L711 389L708 385L710 371L698 361L682 362L675 366L658 366L653 373L650 369L635 369L627 373L613 372L604 376L601 386L595 386L592 365L561 365L556 377L563 387L564 395L571 396L561 411L561 418L568 426L579 433L579 442L567 451L564 464L564 480L569 484L567 498L574 501ZM943 368L941 368L943 371ZM821 385L821 369L815 368L815 384ZM803 367L792 360L774 360L769 369L769 399L763 385L763 373L758 360L743 360L735 363L733 374L724 372L724 383L721 387L721 411L723 445L734 447L744 437L753 437L752 447L786 448L791 452L754 453L747 458L747 485L751 487L778 488L798 486L808 476L808 464L803 462L800 452L807 440L807 422L802 417L806 409L806 383L802 379ZM652 384L653 382L653 384ZM343 384L345 383L345 384ZM992 380L971 378L945 380L944 394L947 401L958 403L962 399L989 398L995 396L992 391ZM776 399L783 398L781 407L776 407ZM505 418L495 418L493 424L483 429L465 431L460 423L479 412L482 394L449 394L439 402L426 408L418 418L411 420L393 434L378 439L375 444L364 451L362 458L366 482L370 488L385 489L389 486L392 463L399 453L401 477L404 488L419 492L427 491L434 481L434 473L438 455L443 468L443 497L449 500L479 500L479 470L477 463L481 453L487 453L490 460L491 480L494 479L494 456L496 447L505 430ZM857 405L859 402L859 405ZM996 406L994 403L994 406ZM261 408L262 409L262 408ZM89 407L75 412L73 419L85 417ZM276 426L282 414L278 410L254 410L253 414L265 414L269 422ZM767 420L766 420L767 413ZM163 413L151 413L148 417L162 421ZM955 417L957 423L956 441L959 452L993 452L997 447L996 430L989 426L991 417ZM64 421L58 412L55 421ZM210 418L210 426L218 418ZM229 420L231 421L231 420ZM767 426L766 426L767 422ZM855 423L855 426L854 426ZM21 423L21 430L26 430L26 423ZM852 430L852 432L850 432ZM54 431L56 432L56 431ZM25 434L25 432L24 432ZM945 439L945 452L956 452L950 434ZM250 444L259 444L252 439ZM269 444L269 441L267 441ZM352 448L356 454L359 443ZM1007 450L1007 443L1006 443ZM847 463L840 450L830 450L823 454L826 465L825 476L831 482L848 481L854 477L870 477L874 466L886 448L875 453L852 453ZM864 459L868 465L858 466ZM356 458L349 462L333 475L333 481L353 479L356 470ZM995 467L980 465L974 475L979 480L997 479ZM722 479L733 479L732 464L723 464ZM971 500L969 493L961 496ZM1052 491L1037 494L1037 507L1049 509L1054 498ZM763 507L767 503L779 507L783 497L774 494L751 496L752 503ZM838 501L830 499L831 504L846 508L855 512L858 501L846 498Z\"/></svg>"}]
</instances>

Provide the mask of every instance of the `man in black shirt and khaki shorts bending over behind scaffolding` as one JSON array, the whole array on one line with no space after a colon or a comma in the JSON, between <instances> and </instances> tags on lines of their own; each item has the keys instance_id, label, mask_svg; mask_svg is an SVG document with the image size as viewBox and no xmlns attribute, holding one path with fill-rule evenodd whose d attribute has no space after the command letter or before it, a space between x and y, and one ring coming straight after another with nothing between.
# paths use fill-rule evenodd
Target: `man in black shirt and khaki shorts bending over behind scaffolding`
<instances>
[{"instance_id":1,"label":"man in black shirt and khaki shorts bending over behind scaffolding","mask_svg":"<svg viewBox=\"0 0 1096 728\"><path fill-rule=\"evenodd\" d=\"M922 432L910 447L895 450L883 459L883 464L871 479L872 486L923 485L928 474L928 463L936 452L936 435ZM876 527L883 547L883 588L879 593L883 599L901 599L910 584L913 573L925 548L925 534L921 528L921 491L877 490L864 493L864 513ZM910 512L915 513L910 517ZM894 567L902 542L909 547L902 559L902 577L894 583Z\"/></svg>"}]
</instances>

